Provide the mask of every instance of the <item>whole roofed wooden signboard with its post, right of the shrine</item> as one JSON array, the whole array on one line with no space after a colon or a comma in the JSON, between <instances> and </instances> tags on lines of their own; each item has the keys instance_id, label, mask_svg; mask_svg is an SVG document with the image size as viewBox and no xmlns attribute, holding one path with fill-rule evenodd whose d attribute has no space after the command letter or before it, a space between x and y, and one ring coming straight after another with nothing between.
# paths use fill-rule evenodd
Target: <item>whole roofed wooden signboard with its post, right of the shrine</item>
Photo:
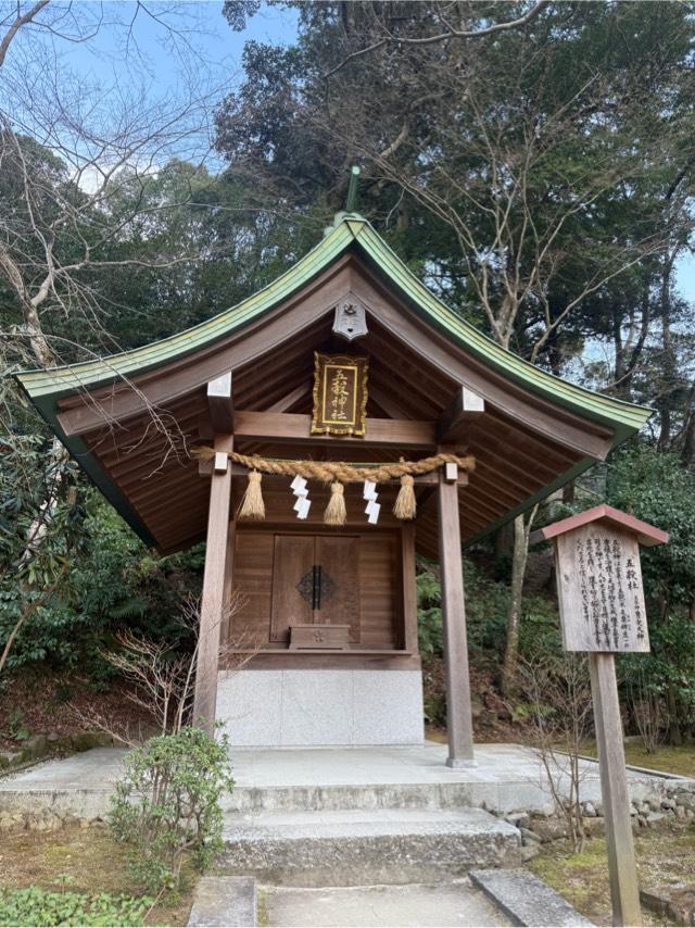
<instances>
[{"instance_id":1,"label":"whole roofed wooden signboard with its post, right of the shrine","mask_svg":"<svg viewBox=\"0 0 695 928\"><path fill-rule=\"evenodd\" d=\"M534 531L530 541L549 539L555 541L563 647L589 652L612 924L642 925L615 655L649 650L640 544L664 544L669 537L601 505Z\"/></svg>"}]
</instances>

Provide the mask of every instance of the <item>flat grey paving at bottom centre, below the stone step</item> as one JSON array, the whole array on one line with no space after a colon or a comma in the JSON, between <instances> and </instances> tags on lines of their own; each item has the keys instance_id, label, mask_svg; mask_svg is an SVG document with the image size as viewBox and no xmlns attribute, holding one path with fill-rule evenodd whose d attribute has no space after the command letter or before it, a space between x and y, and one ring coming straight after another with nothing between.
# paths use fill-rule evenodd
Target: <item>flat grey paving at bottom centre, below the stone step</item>
<instances>
[{"instance_id":1,"label":"flat grey paving at bottom centre, below the stone step","mask_svg":"<svg viewBox=\"0 0 695 928\"><path fill-rule=\"evenodd\" d=\"M458 928L508 921L468 879L446 886L264 887L270 928Z\"/></svg>"}]
</instances>

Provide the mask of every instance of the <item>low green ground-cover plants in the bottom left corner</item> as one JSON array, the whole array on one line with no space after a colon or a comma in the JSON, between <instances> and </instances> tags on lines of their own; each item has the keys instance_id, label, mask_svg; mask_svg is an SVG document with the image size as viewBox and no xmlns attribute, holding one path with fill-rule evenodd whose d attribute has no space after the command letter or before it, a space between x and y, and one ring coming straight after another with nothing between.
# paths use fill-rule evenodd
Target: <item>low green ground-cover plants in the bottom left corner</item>
<instances>
[{"instance_id":1,"label":"low green ground-cover plants in the bottom left corner","mask_svg":"<svg viewBox=\"0 0 695 928\"><path fill-rule=\"evenodd\" d=\"M147 895L0 889L0 925L142 925L153 903Z\"/></svg>"}]
</instances>

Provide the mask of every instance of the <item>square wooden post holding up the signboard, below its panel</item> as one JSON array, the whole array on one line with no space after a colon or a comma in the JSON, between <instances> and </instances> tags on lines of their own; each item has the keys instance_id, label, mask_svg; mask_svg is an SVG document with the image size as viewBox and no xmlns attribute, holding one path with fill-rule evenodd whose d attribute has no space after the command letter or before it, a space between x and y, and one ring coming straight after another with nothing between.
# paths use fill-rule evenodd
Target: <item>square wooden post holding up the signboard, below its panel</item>
<instances>
[{"instance_id":1,"label":"square wooden post holding up the signboard, below its panel","mask_svg":"<svg viewBox=\"0 0 695 928\"><path fill-rule=\"evenodd\" d=\"M642 925L642 908L634 862L616 659L606 652L592 652L589 655L589 668L604 802L612 924L639 926Z\"/></svg>"}]
</instances>

